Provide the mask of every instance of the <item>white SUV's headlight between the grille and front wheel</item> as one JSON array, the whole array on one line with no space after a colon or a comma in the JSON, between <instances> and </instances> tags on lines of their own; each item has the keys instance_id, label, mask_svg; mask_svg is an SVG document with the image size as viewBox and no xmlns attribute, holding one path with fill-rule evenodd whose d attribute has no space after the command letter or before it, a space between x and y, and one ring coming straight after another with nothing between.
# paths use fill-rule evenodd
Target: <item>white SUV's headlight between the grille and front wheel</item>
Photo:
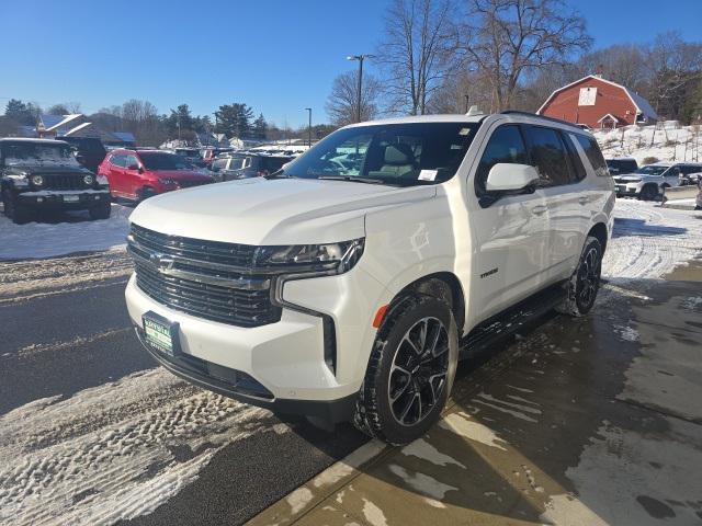
<instances>
[{"instance_id":1,"label":"white SUV's headlight between the grille and front wheel","mask_svg":"<svg viewBox=\"0 0 702 526\"><path fill-rule=\"evenodd\" d=\"M353 268L359 262L364 244L365 240L361 238L328 244L261 247L256 252L254 265L293 274L297 272L342 274Z\"/></svg>"}]
</instances>

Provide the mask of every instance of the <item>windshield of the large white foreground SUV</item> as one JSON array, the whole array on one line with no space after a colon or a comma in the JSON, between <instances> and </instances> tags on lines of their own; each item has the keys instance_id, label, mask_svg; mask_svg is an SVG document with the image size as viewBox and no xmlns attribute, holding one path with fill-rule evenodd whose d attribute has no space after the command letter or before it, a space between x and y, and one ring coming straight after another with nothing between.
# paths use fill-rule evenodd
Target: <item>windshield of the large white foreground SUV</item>
<instances>
[{"instance_id":1,"label":"windshield of the large white foreground SUV","mask_svg":"<svg viewBox=\"0 0 702 526\"><path fill-rule=\"evenodd\" d=\"M411 186L450 180L477 123L410 123L340 129L285 168L302 179Z\"/></svg>"}]
</instances>

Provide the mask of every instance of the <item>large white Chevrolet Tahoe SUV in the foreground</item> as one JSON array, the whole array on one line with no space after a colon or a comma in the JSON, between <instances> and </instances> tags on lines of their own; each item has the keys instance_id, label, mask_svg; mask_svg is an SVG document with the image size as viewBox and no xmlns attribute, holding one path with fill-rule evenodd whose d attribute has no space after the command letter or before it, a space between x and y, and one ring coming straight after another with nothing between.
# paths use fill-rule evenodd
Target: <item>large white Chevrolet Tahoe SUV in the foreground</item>
<instances>
[{"instance_id":1,"label":"large white Chevrolet Tahoe SUV in the foreground","mask_svg":"<svg viewBox=\"0 0 702 526\"><path fill-rule=\"evenodd\" d=\"M140 204L127 307L194 384L404 444L460 355L524 310L590 310L613 204L597 142L561 121L347 126L268 179Z\"/></svg>"}]
</instances>

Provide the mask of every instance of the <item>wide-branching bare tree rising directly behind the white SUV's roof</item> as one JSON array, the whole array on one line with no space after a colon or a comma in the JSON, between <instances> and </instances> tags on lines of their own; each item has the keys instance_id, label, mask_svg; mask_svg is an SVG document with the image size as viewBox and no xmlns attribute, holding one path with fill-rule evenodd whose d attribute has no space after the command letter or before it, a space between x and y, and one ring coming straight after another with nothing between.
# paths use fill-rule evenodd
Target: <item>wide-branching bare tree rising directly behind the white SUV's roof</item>
<instances>
[{"instance_id":1,"label":"wide-branching bare tree rising directly behind the white SUV's roof","mask_svg":"<svg viewBox=\"0 0 702 526\"><path fill-rule=\"evenodd\" d=\"M468 0L456 32L466 66L486 75L492 108L511 106L525 75L564 65L592 39L585 20L563 0Z\"/></svg>"}]
</instances>

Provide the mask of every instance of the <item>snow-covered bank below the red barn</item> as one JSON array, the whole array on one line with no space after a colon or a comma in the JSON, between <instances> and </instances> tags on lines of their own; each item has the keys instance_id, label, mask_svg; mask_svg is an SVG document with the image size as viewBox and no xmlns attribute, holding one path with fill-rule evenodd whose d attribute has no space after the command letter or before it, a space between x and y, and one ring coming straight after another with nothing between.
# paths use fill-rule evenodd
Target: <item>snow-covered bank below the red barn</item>
<instances>
[{"instance_id":1,"label":"snow-covered bank below the red barn","mask_svg":"<svg viewBox=\"0 0 702 526\"><path fill-rule=\"evenodd\" d=\"M647 157L659 161L702 162L702 126L624 126L593 132L607 159L633 157L638 164Z\"/></svg>"}]
</instances>

